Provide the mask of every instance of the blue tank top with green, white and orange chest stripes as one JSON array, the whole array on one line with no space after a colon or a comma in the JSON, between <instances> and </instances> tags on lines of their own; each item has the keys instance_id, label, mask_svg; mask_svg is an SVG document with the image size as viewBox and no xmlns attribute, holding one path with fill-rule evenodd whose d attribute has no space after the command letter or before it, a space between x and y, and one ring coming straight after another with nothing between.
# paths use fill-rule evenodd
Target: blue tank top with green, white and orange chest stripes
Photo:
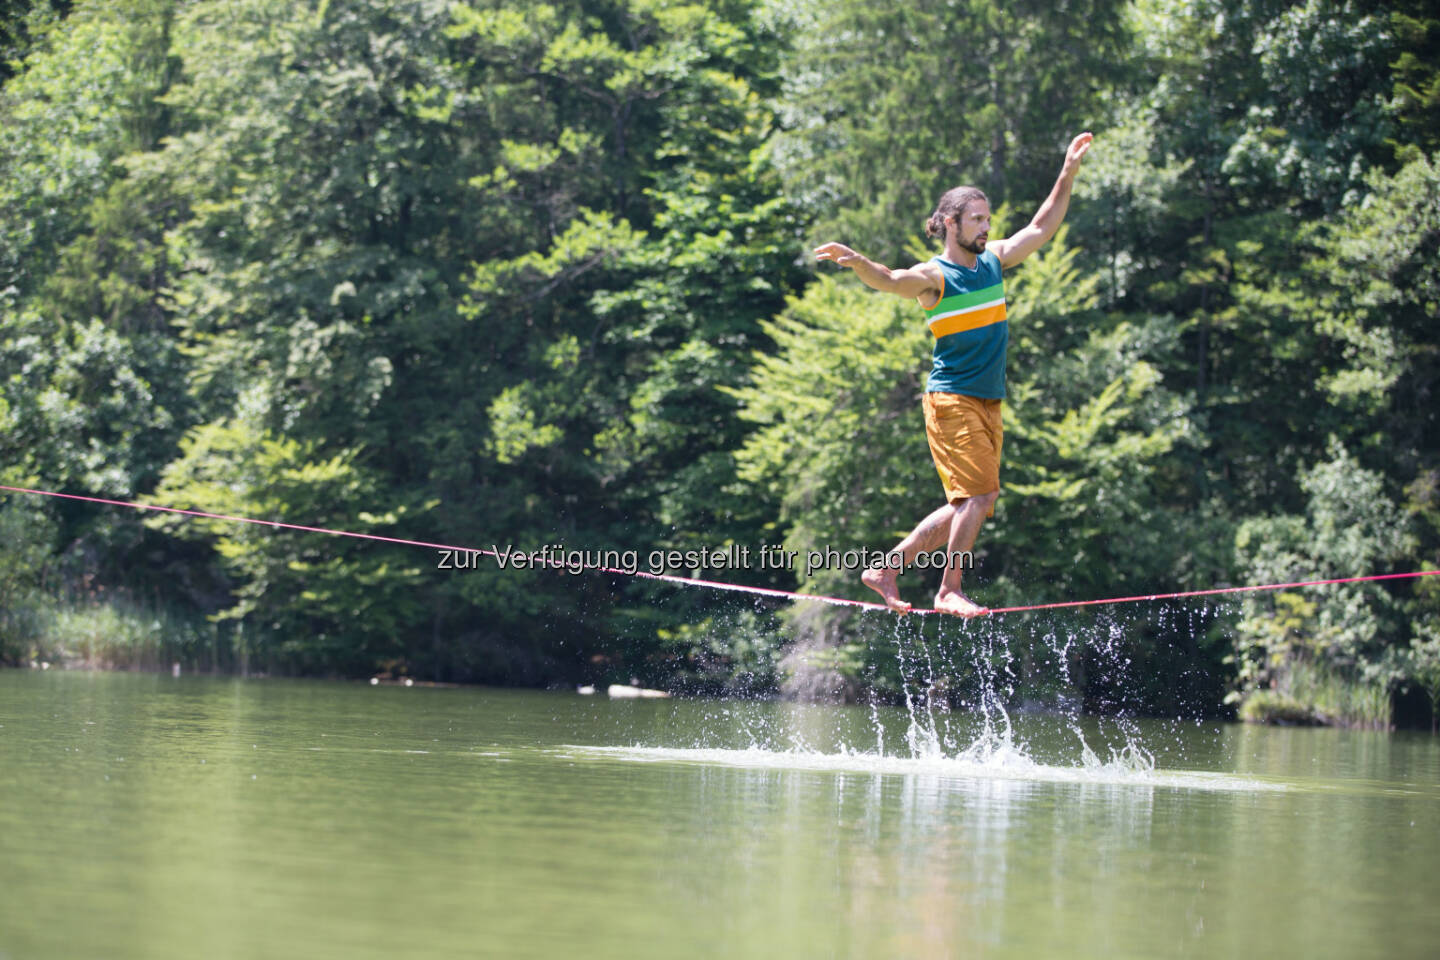
<instances>
[{"instance_id":1,"label":"blue tank top with green, white and orange chest stripes","mask_svg":"<svg viewBox=\"0 0 1440 960\"><path fill-rule=\"evenodd\" d=\"M942 256L930 262L945 273L945 292L939 304L924 311L935 335L935 364L926 390L1002 400L1009 324L999 258L985 250L975 269Z\"/></svg>"}]
</instances>

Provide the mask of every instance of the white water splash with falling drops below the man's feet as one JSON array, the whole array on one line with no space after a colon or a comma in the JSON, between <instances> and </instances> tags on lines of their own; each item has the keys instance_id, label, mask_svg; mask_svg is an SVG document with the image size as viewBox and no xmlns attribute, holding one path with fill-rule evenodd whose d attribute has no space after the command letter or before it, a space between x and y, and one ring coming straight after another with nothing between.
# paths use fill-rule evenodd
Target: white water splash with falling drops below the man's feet
<instances>
[{"instance_id":1,"label":"white water splash with falling drops below the man's feet","mask_svg":"<svg viewBox=\"0 0 1440 960\"><path fill-rule=\"evenodd\" d=\"M1132 682L1132 655L1140 632L1165 630L1174 619L1194 626L1197 616L1204 622L1194 610L1166 609L1004 622L867 619L881 630L870 649L883 653L864 666L871 692L861 705L713 701L701 707L703 733L688 741L651 728L602 743L662 751L645 754L652 759L678 747L690 753L677 757L716 763L749 757L824 769L832 763L825 757L841 757L855 770L1153 783L1158 766L1176 766L1181 741L1166 746L1155 724L1139 720L1145 678Z\"/></svg>"}]
</instances>

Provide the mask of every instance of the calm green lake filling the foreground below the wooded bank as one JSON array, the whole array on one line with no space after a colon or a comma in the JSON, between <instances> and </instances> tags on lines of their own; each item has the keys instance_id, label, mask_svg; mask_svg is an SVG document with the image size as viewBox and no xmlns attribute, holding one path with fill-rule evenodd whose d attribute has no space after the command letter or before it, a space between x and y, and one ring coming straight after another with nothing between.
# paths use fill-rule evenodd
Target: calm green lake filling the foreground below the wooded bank
<instances>
[{"instance_id":1,"label":"calm green lake filling the foreground below the wooded bank","mask_svg":"<svg viewBox=\"0 0 1440 960\"><path fill-rule=\"evenodd\" d=\"M1433 957L1440 743L0 672L0 959Z\"/></svg>"}]
</instances>

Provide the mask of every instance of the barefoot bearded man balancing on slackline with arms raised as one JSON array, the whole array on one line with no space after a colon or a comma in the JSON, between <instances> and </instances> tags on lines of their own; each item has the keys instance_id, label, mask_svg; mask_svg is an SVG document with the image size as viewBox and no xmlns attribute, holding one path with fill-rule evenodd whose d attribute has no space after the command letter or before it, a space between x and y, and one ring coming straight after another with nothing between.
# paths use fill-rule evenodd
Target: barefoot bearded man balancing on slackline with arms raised
<instances>
[{"instance_id":1,"label":"barefoot bearded man balancing on slackline with arms raised","mask_svg":"<svg viewBox=\"0 0 1440 960\"><path fill-rule=\"evenodd\" d=\"M1004 268L1015 266L1054 236L1070 207L1080 160L1090 150L1090 134L1080 134L1066 150L1066 163L1050 196L1034 219L1004 240L989 239L989 201L975 187L955 187L940 197L924 225L940 237L945 253L906 271L893 271L855 253L844 243L815 249L821 261L855 271L860 279L884 294L913 296L924 308L935 335L935 364L924 393L924 433L945 485L946 504L920 521L910 535L865 570L861 580L891 610L906 613L896 577L920 553L946 545L945 576L935 594L935 609L958 616L989 613L960 590L959 556L975 544L981 524L995 512L999 497L999 450L1004 435L999 406L1005 397Z\"/></svg>"}]
</instances>

